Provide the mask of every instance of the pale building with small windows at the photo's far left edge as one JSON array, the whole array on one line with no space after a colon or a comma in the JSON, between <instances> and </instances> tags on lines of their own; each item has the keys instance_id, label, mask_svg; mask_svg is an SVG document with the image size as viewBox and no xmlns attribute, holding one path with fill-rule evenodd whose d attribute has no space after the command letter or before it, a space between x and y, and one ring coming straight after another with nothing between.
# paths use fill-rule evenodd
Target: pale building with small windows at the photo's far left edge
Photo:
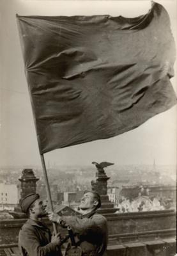
<instances>
[{"instance_id":1,"label":"pale building with small windows at the photo's far left edge","mask_svg":"<svg viewBox=\"0 0 177 256\"><path fill-rule=\"evenodd\" d=\"M17 205L18 204L18 188L13 184L0 184L0 204L1 205Z\"/></svg>"}]
</instances>

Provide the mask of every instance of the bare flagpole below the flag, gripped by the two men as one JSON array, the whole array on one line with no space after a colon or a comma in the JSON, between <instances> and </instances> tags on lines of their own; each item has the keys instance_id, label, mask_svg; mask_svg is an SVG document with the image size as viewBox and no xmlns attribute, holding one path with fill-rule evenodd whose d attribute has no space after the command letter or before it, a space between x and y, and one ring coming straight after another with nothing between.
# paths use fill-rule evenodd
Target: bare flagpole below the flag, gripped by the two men
<instances>
[{"instance_id":1,"label":"bare flagpole below the flag, gripped by the two men","mask_svg":"<svg viewBox=\"0 0 177 256\"><path fill-rule=\"evenodd\" d=\"M50 211L53 212L54 207L52 205L52 197L51 197L51 193L50 193L49 180L48 180L48 177L47 177L47 170L46 170L45 160L44 160L43 154L40 154L40 157L41 157L41 161L42 161L43 176L44 176L44 180L45 180L47 198L49 200L49 207L50 207ZM56 223L52 223L52 225L53 225L53 228L54 228L54 234L57 234Z\"/></svg>"}]
</instances>

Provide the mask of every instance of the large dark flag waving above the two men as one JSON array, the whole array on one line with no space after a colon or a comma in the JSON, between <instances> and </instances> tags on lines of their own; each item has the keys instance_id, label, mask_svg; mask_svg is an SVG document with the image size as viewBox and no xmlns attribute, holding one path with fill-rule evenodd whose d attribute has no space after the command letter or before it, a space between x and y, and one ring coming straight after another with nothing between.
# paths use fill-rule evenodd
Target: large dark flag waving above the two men
<instances>
[{"instance_id":1,"label":"large dark flag waving above the two men","mask_svg":"<svg viewBox=\"0 0 177 256\"><path fill-rule=\"evenodd\" d=\"M116 136L176 104L174 40L160 4L132 19L17 20L40 153Z\"/></svg>"}]
</instances>

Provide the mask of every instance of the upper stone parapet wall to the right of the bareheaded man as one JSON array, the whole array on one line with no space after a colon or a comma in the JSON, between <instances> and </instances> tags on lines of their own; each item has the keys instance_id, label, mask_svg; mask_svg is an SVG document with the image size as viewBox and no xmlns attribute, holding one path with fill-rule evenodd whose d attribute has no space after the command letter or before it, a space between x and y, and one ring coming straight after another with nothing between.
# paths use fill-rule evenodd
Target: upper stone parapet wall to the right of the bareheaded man
<instances>
[{"instance_id":1,"label":"upper stone parapet wall to the right of the bareheaded man","mask_svg":"<svg viewBox=\"0 0 177 256\"><path fill-rule=\"evenodd\" d=\"M128 212L107 216L109 237L118 241L150 239L150 237L171 237L176 228L176 212L173 210Z\"/></svg>"}]
</instances>

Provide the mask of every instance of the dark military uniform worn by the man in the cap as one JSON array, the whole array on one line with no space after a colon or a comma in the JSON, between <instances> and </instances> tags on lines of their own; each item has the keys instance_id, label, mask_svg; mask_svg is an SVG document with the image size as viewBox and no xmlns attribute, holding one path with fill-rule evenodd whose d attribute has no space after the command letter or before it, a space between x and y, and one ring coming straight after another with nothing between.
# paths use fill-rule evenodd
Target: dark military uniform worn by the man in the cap
<instances>
[{"instance_id":1,"label":"dark military uniform worn by the man in the cap","mask_svg":"<svg viewBox=\"0 0 177 256\"><path fill-rule=\"evenodd\" d=\"M59 246L50 241L50 230L40 221L29 219L20 229L19 249L24 256L61 256Z\"/></svg>"}]
</instances>

